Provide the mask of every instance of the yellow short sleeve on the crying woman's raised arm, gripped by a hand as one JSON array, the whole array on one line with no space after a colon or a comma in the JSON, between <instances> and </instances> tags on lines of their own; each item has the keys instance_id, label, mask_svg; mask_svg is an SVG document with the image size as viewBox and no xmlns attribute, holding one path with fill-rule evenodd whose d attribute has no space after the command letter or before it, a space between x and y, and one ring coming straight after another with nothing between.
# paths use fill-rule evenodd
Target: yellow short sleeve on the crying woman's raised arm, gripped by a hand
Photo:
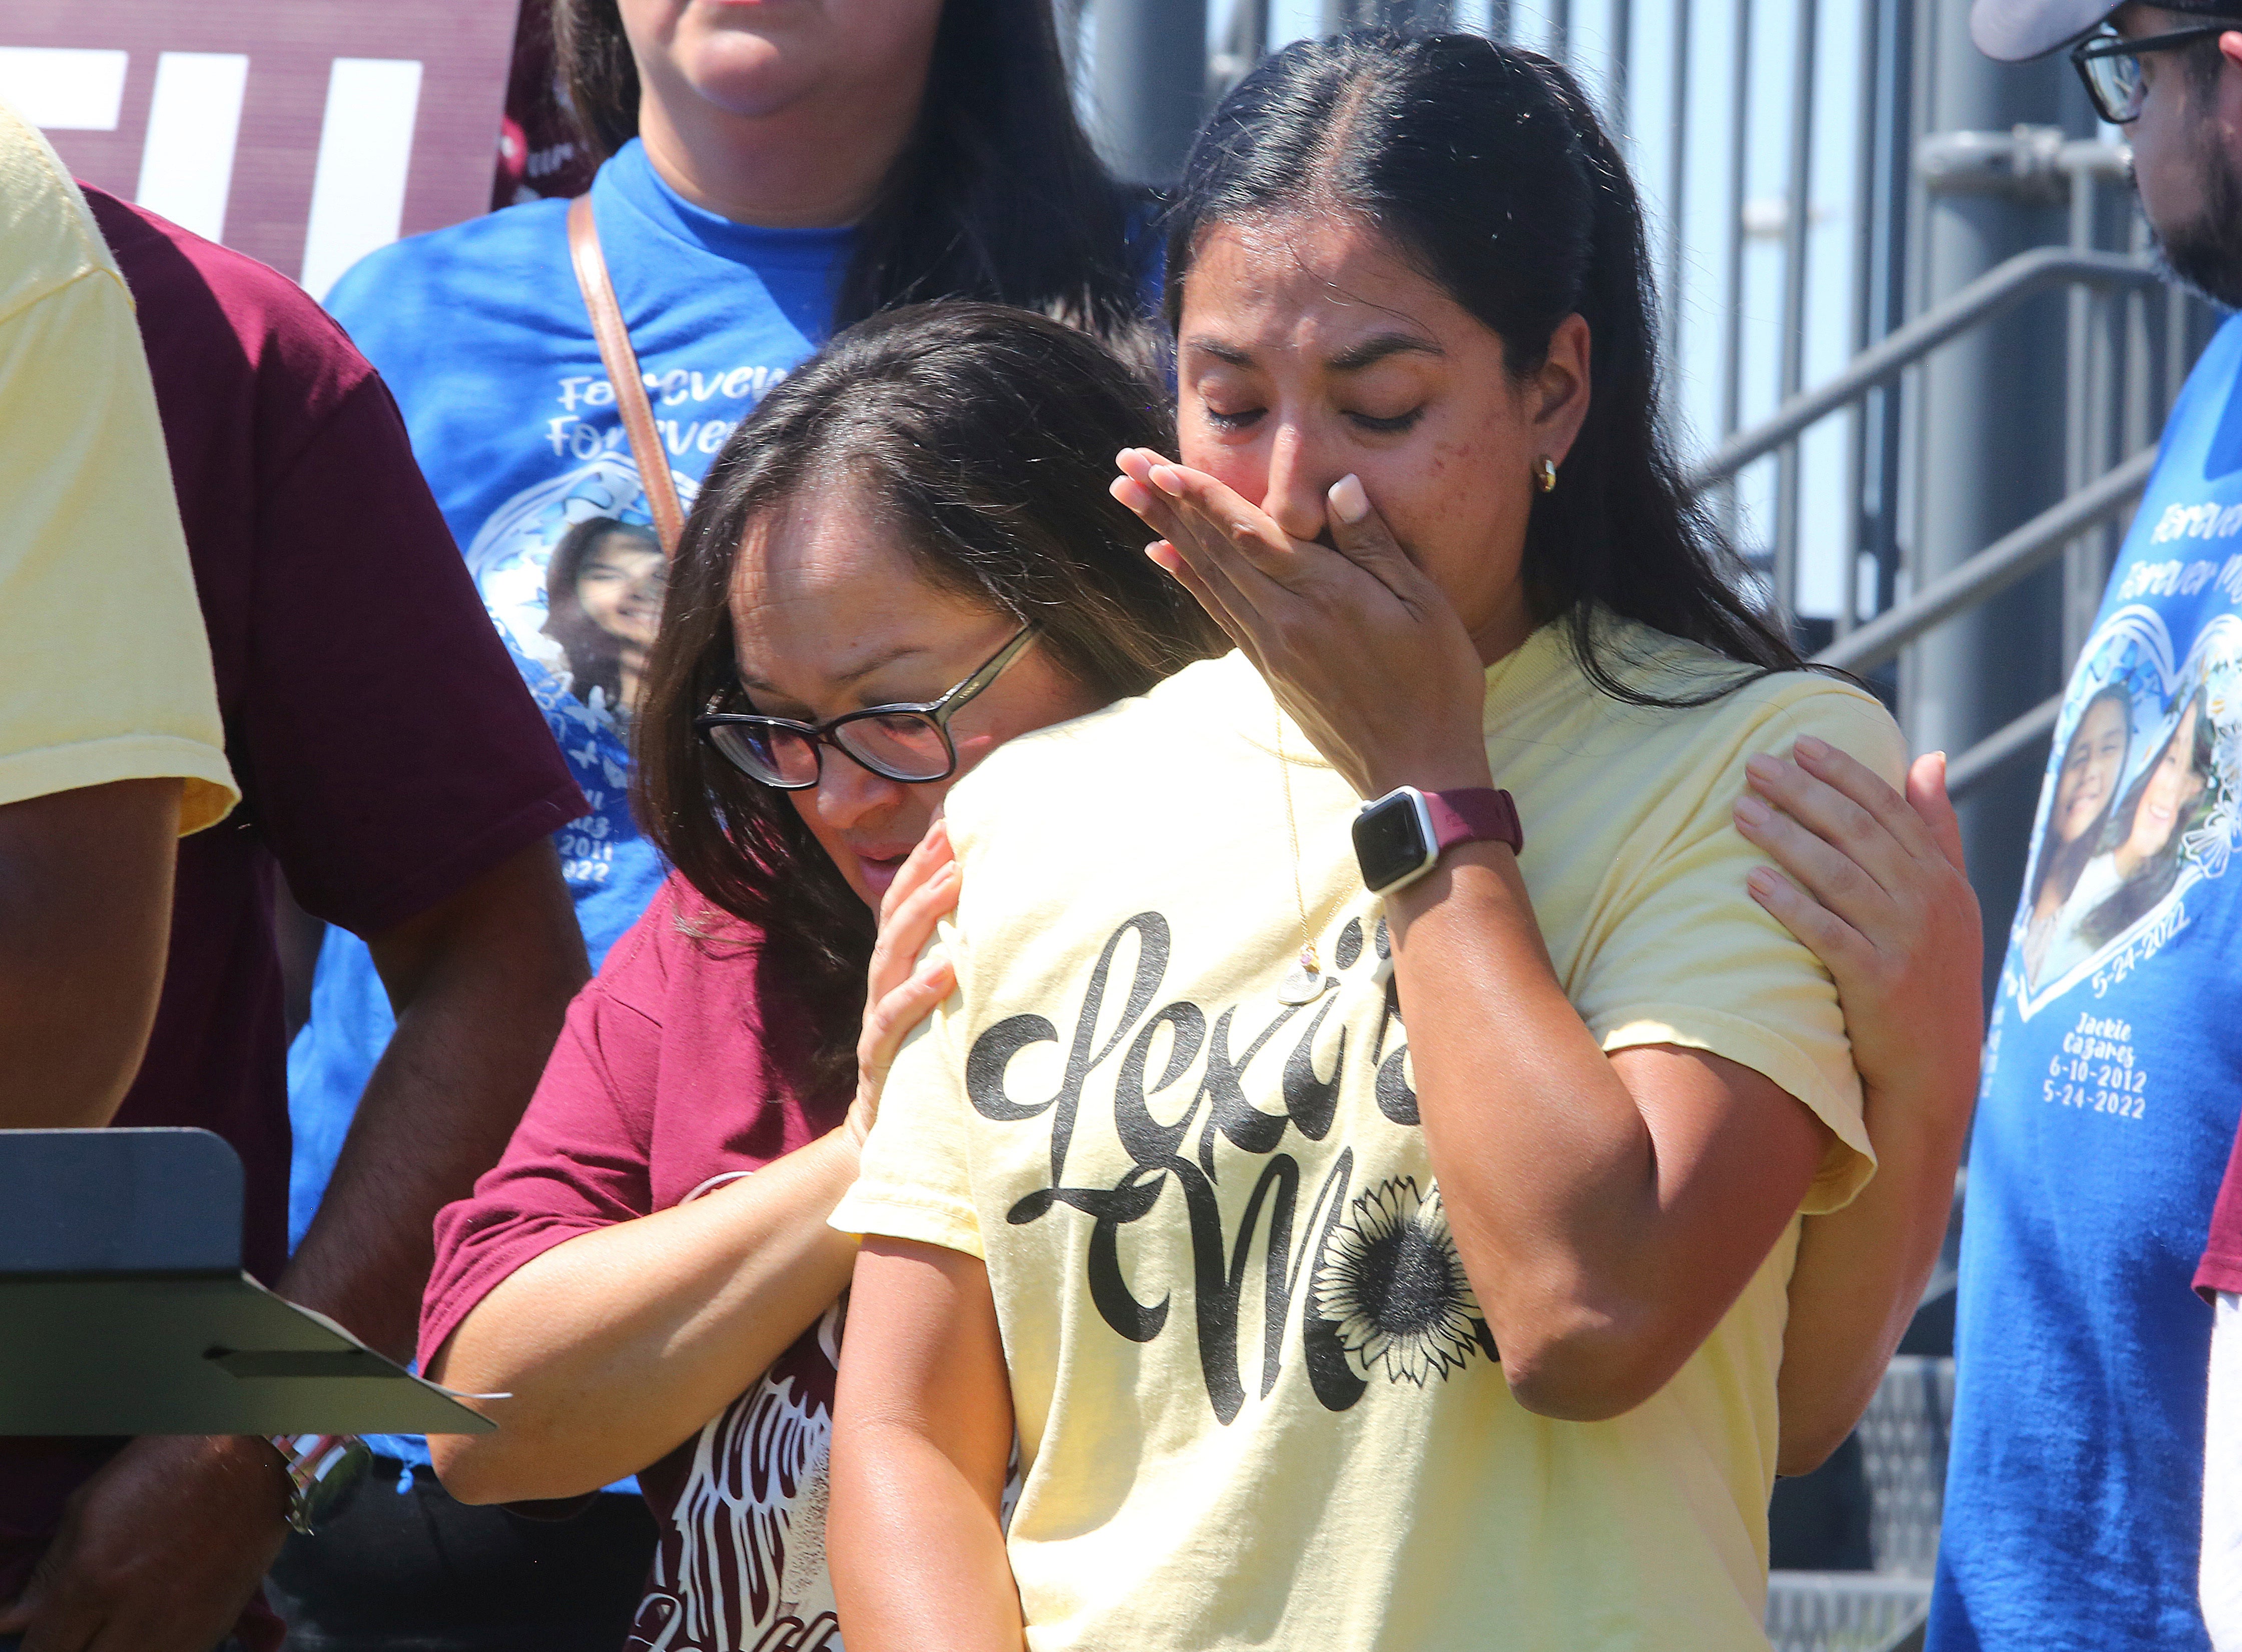
<instances>
[{"instance_id":1,"label":"yellow short sleeve on the crying woman's raised arm, gripped by a hand","mask_svg":"<svg viewBox=\"0 0 2242 1652\"><path fill-rule=\"evenodd\" d=\"M1836 984L1821 959L1751 899L1764 854L1735 829L1744 760L1789 755L1800 735L1827 740L1899 787L1906 746L1890 715L1823 679L1731 695L1713 749L1690 764L1693 791L1655 816L1657 841L1630 845L1623 885L1572 1000L1605 1051L1704 1049L1762 1074L1821 1119L1834 1141L1803 1210L1838 1210L1874 1172L1861 1080Z\"/></svg>"}]
</instances>

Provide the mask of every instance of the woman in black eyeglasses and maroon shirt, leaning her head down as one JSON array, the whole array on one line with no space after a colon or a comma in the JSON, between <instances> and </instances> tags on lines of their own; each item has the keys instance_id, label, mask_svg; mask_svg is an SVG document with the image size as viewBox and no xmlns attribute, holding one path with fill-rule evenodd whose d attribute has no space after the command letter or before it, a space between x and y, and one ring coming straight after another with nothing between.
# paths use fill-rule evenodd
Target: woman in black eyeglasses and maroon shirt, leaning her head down
<instances>
[{"instance_id":1,"label":"woman in black eyeglasses and maroon shirt, leaning her head down","mask_svg":"<svg viewBox=\"0 0 2242 1652\"><path fill-rule=\"evenodd\" d=\"M691 516L637 724L637 809L677 874L444 1213L421 1325L433 1376L511 1394L495 1435L433 1441L453 1495L639 1473L661 1547L632 1645L836 1643L856 1246L825 1215L895 1042L948 991L915 959L955 870L939 834L912 850L995 744L1220 646L1103 486L1157 403L1038 316L904 309L773 390Z\"/></svg>"}]
</instances>

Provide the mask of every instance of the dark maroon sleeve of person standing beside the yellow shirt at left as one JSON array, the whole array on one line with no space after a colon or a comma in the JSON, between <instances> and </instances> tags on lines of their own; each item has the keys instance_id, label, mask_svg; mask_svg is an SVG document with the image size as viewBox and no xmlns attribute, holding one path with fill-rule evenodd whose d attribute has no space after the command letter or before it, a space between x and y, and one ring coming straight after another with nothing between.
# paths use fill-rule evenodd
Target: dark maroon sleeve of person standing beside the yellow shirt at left
<instances>
[{"instance_id":1,"label":"dark maroon sleeve of person standing beside the yellow shirt at left","mask_svg":"<svg viewBox=\"0 0 2242 1652\"><path fill-rule=\"evenodd\" d=\"M226 753L307 912L379 935L585 811L372 370L265 489L258 547Z\"/></svg>"}]
</instances>

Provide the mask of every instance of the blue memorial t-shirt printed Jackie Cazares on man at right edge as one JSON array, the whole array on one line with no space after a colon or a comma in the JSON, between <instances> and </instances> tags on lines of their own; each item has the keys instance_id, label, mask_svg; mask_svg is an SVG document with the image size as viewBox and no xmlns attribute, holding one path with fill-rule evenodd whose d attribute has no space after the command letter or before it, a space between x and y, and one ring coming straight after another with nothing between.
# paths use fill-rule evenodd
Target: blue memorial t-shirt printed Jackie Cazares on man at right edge
<instances>
[{"instance_id":1,"label":"blue memorial t-shirt printed Jackie Cazares on man at right edge","mask_svg":"<svg viewBox=\"0 0 2242 1652\"><path fill-rule=\"evenodd\" d=\"M2242 1112L2238 374L2242 318L2056 722L1971 1141L1937 1652L2208 1645L2188 1287Z\"/></svg>"}]
</instances>

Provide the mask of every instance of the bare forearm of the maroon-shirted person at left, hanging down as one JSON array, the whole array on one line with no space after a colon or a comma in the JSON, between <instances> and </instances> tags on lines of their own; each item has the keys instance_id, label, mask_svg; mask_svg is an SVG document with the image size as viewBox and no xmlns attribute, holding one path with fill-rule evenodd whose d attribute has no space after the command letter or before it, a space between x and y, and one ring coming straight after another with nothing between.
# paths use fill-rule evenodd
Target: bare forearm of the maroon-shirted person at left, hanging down
<instances>
[{"instance_id":1,"label":"bare forearm of the maroon-shirted person at left, hanging down","mask_svg":"<svg viewBox=\"0 0 2242 1652\"><path fill-rule=\"evenodd\" d=\"M587 968L549 843L372 950L397 1031L280 1293L410 1358L435 1215L498 1163Z\"/></svg>"}]
</instances>

